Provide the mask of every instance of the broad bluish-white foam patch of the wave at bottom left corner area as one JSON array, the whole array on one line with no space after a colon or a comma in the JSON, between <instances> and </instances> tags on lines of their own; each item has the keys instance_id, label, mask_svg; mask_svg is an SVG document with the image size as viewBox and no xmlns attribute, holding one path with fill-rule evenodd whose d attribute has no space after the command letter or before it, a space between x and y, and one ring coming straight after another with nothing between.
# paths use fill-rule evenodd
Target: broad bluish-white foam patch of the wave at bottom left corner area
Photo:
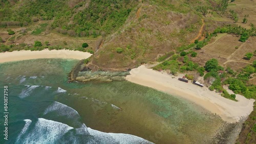
<instances>
[{"instance_id":1,"label":"broad bluish-white foam patch of the wave at bottom left corner area","mask_svg":"<svg viewBox=\"0 0 256 144\"><path fill-rule=\"evenodd\" d=\"M55 143L72 127L44 118L38 118L34 128L16 143Z\"/></svg>"}]
</instances>

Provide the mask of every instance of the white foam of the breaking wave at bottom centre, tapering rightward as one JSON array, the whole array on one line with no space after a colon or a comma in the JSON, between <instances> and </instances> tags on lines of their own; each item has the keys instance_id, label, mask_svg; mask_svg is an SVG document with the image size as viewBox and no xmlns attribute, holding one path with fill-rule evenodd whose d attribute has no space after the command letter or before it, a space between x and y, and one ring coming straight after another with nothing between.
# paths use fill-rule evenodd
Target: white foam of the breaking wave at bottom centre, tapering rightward
<instances>
[{"instance_id":1,"label":"white foam of the breaking wave at bottom centre, tapering rightward","mask_svg":"<svg viewBox=\"0 0 256 144\"><path fill-rule=\"evenodd\" d=\"M97 140L97 143L152 143L147 141L141 137L131 135L131 134L123 134L123 133L105 133L97 130L93 130L91 128L87 128L88 132L94 136Z\"/></svg>"}]
</instances>

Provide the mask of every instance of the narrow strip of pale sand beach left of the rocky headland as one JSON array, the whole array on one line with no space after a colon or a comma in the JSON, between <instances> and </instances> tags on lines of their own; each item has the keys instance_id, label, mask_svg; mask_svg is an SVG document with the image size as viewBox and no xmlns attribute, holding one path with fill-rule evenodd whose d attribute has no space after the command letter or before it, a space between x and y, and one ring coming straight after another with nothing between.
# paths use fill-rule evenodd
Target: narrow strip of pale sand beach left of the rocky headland
<instances>
[{"instance_id":1,"label":"narrow strip of pale sand beach left of the rocky headland","mask_svg":"<svg viewBox=\"0 0 256 144\"><path fill-rule=\"evenodd\" d=\"M14 51L0 53L0 63L30 59L64 58L64 59L86 59L92 54L70 50L42 50L42 51Z\"/></svg>"}]
</instances>

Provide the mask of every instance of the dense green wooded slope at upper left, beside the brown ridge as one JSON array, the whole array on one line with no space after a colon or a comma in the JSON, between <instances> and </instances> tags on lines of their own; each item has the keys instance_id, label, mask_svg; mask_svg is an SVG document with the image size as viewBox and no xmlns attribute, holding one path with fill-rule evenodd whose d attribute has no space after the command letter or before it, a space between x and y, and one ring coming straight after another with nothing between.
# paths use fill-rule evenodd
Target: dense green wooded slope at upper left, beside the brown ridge
<instances>
[{"instance_id":1,"label":"dense green wooded slope at upper left, beside the brown ridge","mask_svg":"<svg viewBox=\"0 0 256 144\"><path fill-rule=\"evenodd\" d=\"M117 30L138 4L131 0L91 1L89 7L87 3L68 0L18 3L0 2L0 27L27 26L38 20L53 20L51 29L78 37L97 37ZM14 5L18 5L18 9ZM40 27L32 34L38 35L42 31L44 28Z\"/></svg>"}]
</instances>

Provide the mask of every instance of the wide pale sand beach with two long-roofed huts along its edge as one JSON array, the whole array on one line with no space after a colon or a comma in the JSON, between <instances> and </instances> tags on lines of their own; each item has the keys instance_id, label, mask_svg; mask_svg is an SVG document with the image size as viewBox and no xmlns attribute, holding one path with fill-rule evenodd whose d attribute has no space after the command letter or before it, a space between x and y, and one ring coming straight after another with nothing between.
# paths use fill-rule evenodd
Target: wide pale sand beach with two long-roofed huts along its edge
<instances>
[{"instance_id":1,"label":"wide pale sand beach with two long-roofed huts along its edge","mask_svg":"<svg viewBox=\"0 0 256 144\"><path fill-rule=\"evenodd\" d=\"M236 94L238 102L226 99L207 87L179 81L178 78L184 76L183 74L172 78L174 76L148 69L144 65L132 69L130 74L126 76L127 81L185 98L220 115L224 121L230 123L239 121L241 117L249 115L253 110L253 99L248 100L239 94Z\"/></svg>"}]
</instances>

